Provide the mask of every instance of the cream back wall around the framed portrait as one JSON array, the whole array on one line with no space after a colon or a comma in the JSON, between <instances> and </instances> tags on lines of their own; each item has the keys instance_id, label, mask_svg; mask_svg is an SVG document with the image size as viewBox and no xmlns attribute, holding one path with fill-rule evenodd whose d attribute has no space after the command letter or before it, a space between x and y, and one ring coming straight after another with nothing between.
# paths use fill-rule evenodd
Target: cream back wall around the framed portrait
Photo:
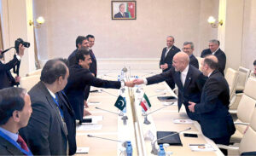
<instances>
[{"instance_id":1,"label":"cream back wall around the framed portrait","mask_svg":"<svg viewBox=\"0 0 256 156\"><path fill-rule=\"evenodd\" d=\"M139 0L137 20L111 20L110 0L37 0L35 17L45 24L37 29L40 59L67 57L75 49L78 35L96 37L94 51L99 59L159 59L166 36L195 43L195 54L217 38L217 29L207 17L218 17L218 0Z\"/></svg>"}]
</instances>

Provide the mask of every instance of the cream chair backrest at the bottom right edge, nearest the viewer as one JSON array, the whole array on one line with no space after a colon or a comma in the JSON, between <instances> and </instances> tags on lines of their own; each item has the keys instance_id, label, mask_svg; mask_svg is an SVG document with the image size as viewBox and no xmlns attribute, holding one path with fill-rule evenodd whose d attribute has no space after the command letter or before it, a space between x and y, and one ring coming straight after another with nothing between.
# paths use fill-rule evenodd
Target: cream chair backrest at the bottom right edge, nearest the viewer
<instances>
[{"instance_id":1,"label":"cream chair backrest at the bottom right edge, nearest the viewer","mask_svg":"<svg viewBox=\"0 0 256 156\"><path fill-rule=\"evenodd\" d=\"M253 109L252 118L250 121L249 128L247 129L244 136L241 138L239 153L247 153L256 151L256 108Z\"/></svg>"}]
</instances>

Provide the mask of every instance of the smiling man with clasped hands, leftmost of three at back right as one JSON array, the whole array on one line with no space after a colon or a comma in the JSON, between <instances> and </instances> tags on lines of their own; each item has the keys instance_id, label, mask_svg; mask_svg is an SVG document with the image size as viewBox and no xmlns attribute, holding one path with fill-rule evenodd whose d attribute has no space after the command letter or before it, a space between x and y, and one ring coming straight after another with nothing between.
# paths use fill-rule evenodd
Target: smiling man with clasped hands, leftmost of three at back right
<instances>
[{"instance_id":1,"label":"smiling man with clasped hands, leftmost of three at back right","mask_svg":"<svg viewBox=\"0 0 256 156\"><path fill-rule=\"evenodd\" d=\"M172 68L173 56L180 51L180 49L175 47L173 43L174 38L172 36L166 38L167 47L162 50L162 55L160 58L160 69L162 69L163 72L166 72ZM172 78L166 79L166 83L170 86L172 90L175 88L175 84Z\"/></svg>"}]
</instances>

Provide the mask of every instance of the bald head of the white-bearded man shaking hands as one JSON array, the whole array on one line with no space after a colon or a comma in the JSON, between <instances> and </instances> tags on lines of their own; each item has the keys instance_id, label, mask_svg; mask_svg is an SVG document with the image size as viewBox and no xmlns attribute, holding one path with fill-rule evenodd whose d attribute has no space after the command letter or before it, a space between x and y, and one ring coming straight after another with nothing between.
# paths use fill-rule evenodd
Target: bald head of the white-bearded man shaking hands
<instances>
[{"instance_id":1,"label":"bald head of the white-bearded man shaking hands","mask_svg":"<svg viewBox=\"0 0 256 156\"><path fill-rule=\"evenodd\" d=\"M172 66L175 67L175 71L183 72L183 70L189 65L189 55L184 52L178 52L173 57Z\"/></svg>"}]
</instances>

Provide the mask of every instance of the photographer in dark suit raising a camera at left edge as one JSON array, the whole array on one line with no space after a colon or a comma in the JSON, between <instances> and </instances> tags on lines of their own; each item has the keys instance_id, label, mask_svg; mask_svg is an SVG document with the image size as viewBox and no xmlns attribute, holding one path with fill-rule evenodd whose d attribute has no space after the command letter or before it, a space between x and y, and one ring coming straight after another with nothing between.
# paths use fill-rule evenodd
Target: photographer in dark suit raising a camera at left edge
<instances>
[{"instance_id":1,"label":"photographer in dark suit raising a camera at left edge","mask_svg":"<svg viewBox=\"0 0 256 156\"><path fill-rule=\"evenodd\" d=\"M25 47L22 43L19 44L19 53L14 55L14 59L8 63L3 63L0 61L0 90L3 88L13 87L14 85L20 84L20 77L12 76L10 69L14 68L16 65L20 64L20 59L24 55ZM0 59L3 58L2 51L0 50Z\"/></svg>"}]
</instances>

